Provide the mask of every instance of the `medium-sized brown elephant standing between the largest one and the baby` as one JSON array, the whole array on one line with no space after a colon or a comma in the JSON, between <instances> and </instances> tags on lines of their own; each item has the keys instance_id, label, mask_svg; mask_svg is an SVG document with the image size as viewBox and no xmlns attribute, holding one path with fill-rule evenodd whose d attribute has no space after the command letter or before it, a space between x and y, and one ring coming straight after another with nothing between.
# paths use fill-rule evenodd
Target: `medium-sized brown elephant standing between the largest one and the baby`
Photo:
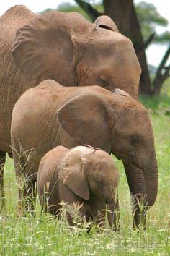
<instances>
[{"instance_id":1,"label":"medium-sized brown elephant standing between the largest one and the baby","mask_svg":"<svg viewBox=\"0 0 170 256\"><path fill-rule=\"evenodd\" d=\"M145 194L143 205L151 206L156 200L158 170L153 129L146 108L133 98L99 86L66 88L45 80L27 90L14 106L12 146L18 152L19 143L24 150L36 150L27 169L16 169L18 176L27 174L33 184L40 159L49 150L57 145L73 148L87 144L122 159L134 209ZM28 153L22 158L15 151L13 154L15 163L24 166ZM136 225L140 222L138 213L136 210Z\"/></svg>"}]
</instances>

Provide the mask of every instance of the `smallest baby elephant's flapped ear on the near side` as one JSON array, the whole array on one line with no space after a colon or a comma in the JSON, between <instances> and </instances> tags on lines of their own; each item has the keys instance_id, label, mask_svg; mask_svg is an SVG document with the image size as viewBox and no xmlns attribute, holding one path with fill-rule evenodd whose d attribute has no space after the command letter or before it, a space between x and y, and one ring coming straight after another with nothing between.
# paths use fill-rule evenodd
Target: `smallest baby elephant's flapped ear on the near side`
<instances>
[{"instance_id":1,"label":"smallest baby elephant's flapped ear on the near side","mask_svg":"<svg viewBox=\"0 0 170 256\"><path fill-rule=\"evenodd\" d=\"M72 163L69 163L70 161ZM64 159L60 169L59 179L61 179L61 182L79 197L89 200L89 186L81 158Z\"/></svg>"}]
</instances>

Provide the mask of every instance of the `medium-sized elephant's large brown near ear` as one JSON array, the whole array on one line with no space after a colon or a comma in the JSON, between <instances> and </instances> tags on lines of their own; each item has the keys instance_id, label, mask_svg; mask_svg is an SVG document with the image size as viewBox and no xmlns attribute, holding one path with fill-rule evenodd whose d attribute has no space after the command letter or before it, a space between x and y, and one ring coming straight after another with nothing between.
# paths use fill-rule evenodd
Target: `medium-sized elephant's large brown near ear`
<instances>
[{"instance_id":1,"label":"medium-sized elephant's large brown near ear","mask_svg":"<svg viewBox=\"0 0 170 256\"><path fill-rule=\"evenodd\" d=\"M87 91L65 103L58 110L58 119L65 132L77 145L91 145L110 153L112 121L102 97Z\"/></svg>"}]
</instances>

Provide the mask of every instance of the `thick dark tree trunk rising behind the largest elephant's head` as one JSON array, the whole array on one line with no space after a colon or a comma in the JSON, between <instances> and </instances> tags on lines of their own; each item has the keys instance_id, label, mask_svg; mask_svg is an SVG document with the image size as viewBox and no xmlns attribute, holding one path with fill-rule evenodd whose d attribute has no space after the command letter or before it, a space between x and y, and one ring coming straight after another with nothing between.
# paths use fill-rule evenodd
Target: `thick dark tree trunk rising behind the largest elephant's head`
<instances>
[{"instance_id":1,"label":"thick dark tree trunk rising behind the largest elephant's head","mask_svg":"<svg viewBox=\"0 0 170 256\"><path fill-rule=\"evenodd\" d=\"M151 95L151 80L145 54L145 43L140 31L138 17L135 13L133 0L104 0L104 12L115 21L120 33L133 41L142 74L140 77L140 93Z\"/></svg>"}]
</instances>

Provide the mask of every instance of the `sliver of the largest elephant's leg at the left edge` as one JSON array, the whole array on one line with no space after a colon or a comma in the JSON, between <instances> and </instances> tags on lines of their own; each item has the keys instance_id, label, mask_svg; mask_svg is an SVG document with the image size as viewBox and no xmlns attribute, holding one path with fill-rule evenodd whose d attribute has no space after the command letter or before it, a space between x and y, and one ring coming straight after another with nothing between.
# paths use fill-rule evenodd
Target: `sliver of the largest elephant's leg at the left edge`
<instances>
[{"instance_id":1,"label":"sliver of the largest elephant's leg at the left edge","mask_svg":"<svg viewBox=\"0 0 170 256\"><path fill-rule=\"evenodd\" d=\"M5 206L4 197L4 164L6 161L6 153L0 151L0 209Z\"/></svg>"}]
</instances>

